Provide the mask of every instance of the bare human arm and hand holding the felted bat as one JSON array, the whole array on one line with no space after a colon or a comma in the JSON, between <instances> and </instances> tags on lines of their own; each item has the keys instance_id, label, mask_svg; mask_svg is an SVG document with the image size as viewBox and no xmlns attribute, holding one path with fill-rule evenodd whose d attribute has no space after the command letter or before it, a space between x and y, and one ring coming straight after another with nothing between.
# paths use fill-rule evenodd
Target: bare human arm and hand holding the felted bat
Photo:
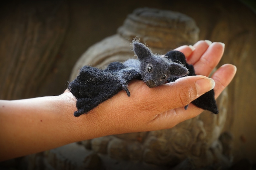
<instances>
[{"instance_id":1,"label":"bare human arm and hand holding the felted bat","mask_svg":"<svg viewBox=\"0 0 256 170\"><path fill-rule=\"evenodd\" d=\"M217 98L231 82L236 67L225 64L208 78L222 58L224 44L198 41L177 48L195 73L175 82L149 88L140 80L98 107L74 117L76 99L66 90L58 96L0 100L0 161L106 135L172 128L203 110L190 104L214 87Z\"/></svg>"}]
</instances>

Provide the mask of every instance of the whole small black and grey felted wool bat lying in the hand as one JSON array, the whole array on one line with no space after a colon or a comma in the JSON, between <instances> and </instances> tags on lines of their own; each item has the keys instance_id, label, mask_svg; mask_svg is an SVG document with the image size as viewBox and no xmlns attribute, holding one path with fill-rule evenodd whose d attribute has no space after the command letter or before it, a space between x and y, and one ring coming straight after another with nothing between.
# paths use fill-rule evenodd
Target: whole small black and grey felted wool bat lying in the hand
<instances>
[{"instance_id":1,"label":"whole small black and grey felted wool bat lying in the hand","mask_svg":"<svg viewBox=\"0 0 256 170\"><path fill-rule=\"evenodd\" d=\"M68 85L68 89L77 99L77 111L74 112L74 116L89 112L121 90L130 96L128 84L133 79L143 80L147 86L153 88L182 76L195 75L193 66L186 63L182 52L169 51L162 57L153 54L148 47L138 41L133 41L133 51L138 59L129 59L124 63L113 62L104 70L90 66L80 69L79 75ZM218 113L213 90L192 103L202 109Z\"/></svg>"}]
</instances>

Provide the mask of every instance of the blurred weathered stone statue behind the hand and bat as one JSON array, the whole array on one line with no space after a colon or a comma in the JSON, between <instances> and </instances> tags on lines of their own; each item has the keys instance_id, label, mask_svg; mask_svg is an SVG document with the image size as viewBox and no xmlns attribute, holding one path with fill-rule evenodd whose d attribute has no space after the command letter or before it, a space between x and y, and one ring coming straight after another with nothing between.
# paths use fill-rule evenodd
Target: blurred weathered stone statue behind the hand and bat
<instances>
[{"instance_id":1,"label":"blurred weathered stone statue behind the hand and bat","mask_svg":"<svg viewBox=\"0 0 256 170\"><path fill-rule=\"evenodd\" d=\"M70 81L84 65L103 68L113 61L135 58L131 46L131 40L135 37L146 43L153 53L165 54L176 47L197 42L199 28L191 17L182 13L152 8L136 9L127 16L117 34L94 44L81 56L73 68ZM206 167L213 163L229 166L231 154L228 149L227 154L222 153L223 146L230 148L231 137L222 134L224 136L221 138L227 115L226 90L217 103L220 110L218 115L204 111L172 129L106 136L81 143L102 160L128 160L177 169ZM230 138L225 138L225 135Z\"/></svg>"}]
</instances>

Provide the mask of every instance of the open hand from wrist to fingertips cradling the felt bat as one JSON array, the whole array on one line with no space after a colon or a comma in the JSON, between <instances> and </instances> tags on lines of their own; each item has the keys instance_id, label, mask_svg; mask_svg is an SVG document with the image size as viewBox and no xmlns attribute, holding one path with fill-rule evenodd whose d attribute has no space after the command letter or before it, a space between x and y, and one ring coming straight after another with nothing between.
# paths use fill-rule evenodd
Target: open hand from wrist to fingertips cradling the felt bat
<instances>
[{"instance_id":1,"label":"open hand from wrist to fingertips cradling the felt bat","mask_svg":"<svg viewBox=\"0 0 256 170\"><path fill-rule=\"evenodd\" d=\"M128 86L130 97L121 91L77 118L86 122L84 126L93 127L89 138L168 129L199 115L202 109L190 104L185 110L184 106L211 90L214 85L215 97L218 97L236 72L235 66L225 64L212 75L212 79L206 77L217 66L224 51L223 43L209 44L209 41L198 41L193 47L176 49L184 53L187 62L194 66L195 73L202 76L182 77L155 88L148 88L142 81L135 80ZM83 123L79 128L83 128ZM84 137L88 139L88 135Z\"/></svg>"}]
</instances>

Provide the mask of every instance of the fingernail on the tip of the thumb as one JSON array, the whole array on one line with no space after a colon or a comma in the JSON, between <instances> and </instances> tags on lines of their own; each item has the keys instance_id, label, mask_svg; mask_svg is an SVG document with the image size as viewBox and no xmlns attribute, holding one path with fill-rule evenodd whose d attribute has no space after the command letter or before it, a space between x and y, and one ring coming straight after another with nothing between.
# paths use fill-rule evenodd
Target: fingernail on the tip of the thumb
<instances>
[{"instance_id":1,"label":"fingernail on the tip of the thumb","mask_svg":"<svg viewBox=\"0 0 256 170\"><path fill-rule=\"evenodd\" d=\"M209 77L204 77L195 82L197 94L201 95L210 90L212 90L215 86L215 82L213 79Z\"/></svg>"}]
</instances>

